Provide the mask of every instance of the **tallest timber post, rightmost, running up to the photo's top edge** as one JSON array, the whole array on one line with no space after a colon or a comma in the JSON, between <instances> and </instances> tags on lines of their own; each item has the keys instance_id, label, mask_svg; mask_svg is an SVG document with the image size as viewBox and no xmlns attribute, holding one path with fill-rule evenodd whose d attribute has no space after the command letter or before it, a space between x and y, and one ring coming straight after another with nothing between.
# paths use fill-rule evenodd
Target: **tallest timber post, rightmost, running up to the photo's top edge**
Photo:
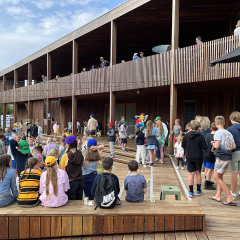
<instances>
[{"instance_id":1,"label":"tallest timber post, rightmost, running up to the photo's top edge","mask_svg":"<svg viewBox=\"0 0 240 240\"><path fill-rule=\"evenodd\" d=\"M177 117L177 87L174 85L174 55L179 42L179 1L172 0L171 85L170 85L170 131ZM170 132L170 153L173 153L173 134Z\"/></svg>"}]
</instances>

